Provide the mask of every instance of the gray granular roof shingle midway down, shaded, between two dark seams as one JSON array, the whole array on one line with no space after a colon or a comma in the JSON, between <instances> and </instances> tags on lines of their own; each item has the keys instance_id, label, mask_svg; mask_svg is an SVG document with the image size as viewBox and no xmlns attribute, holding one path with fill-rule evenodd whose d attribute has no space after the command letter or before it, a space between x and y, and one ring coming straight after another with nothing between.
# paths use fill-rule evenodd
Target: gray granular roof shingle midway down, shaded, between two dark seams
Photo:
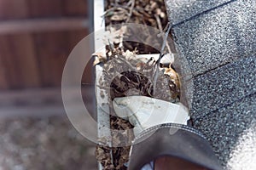
<instances>
[{"instance_id":1,"label":"gray granular roof shingle midway down, shaded, between two dark seams","mask_svg":"<svg viewBox=\"0 0 256 170\"><path fill-rule=\"evenodd\" d=\"M191 114L211 111L256 94L256 57L247 57L194 77Z\"/></svg>"}]
</instances>

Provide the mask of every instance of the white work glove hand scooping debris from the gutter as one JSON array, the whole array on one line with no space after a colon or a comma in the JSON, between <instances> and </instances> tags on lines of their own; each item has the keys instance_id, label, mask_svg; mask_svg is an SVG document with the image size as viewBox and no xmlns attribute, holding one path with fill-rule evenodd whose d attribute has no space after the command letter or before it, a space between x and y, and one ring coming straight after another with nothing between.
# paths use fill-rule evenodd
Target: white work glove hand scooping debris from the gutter
<instances>
[{"instance_id":1,"label":"white work glove hand scooping debris from the gutter","mask_svg":"<svg viewBox=\"0 0 256 170\"><path fill-rule=\"evenodd\" d=\"M113 109L117 116L131 122L135 136L155 125L163 123L187 125L189 120L189 111L181 103L173 104L146 96L115 98Z\"/></svg>"}]
</instances>

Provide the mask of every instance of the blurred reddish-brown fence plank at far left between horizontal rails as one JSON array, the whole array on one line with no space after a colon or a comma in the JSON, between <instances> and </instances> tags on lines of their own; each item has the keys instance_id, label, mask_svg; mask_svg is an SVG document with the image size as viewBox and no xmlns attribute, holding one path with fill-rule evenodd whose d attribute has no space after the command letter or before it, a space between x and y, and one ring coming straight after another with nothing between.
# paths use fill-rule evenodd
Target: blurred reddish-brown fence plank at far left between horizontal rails
<instances>
[{"instance_id":1,"label":"blurred reddish-brown fence plank at far left between horizontal rails","mask_svg":"<svg viewBox=\"0 0 256 170\"><path fill-rule=\"evenodd\" d=\"M22 8L19 14L28 17L26 1L15 1L15 3ZM8 50L6 50L3 60L8 68L9 88L38 87L40 85L38 62L31 35L9 36L5 43Z\"/></svg>"}]
</instances>

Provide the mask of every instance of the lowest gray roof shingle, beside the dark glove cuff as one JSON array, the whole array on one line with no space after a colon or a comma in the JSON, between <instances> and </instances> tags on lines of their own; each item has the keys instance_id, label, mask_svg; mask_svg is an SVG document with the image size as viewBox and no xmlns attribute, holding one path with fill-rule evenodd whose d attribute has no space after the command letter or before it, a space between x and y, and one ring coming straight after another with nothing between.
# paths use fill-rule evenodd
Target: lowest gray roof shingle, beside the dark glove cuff
<instances>
[{"instance_id":1,"label":"lowest gray roof shingle, beside the dark glove cuff","mask_svg":"<svg viewBox=\"0 0 256 170\"><path fill-rule=\"evenodd\" d=\"M225 105L225 107L213 111L207 116L197 116L195 118L195 127L205 133L224 166L230 161L230 154L236 150L236 146L239 147L242 143L242 141L239 141L241 134L255 124L255 98L256 94L251 94L247 98ZM253 129L255 128L253 127ZM254 134L256 135L256 133ZM253 138L255 142L255 136ZM250 152L255 153L255 143L247 144L247 152L248 155ZM239 155L240 153L235 151L235 154ZM248 160L250 159L249 157ZM232 165L232 167L236 167L240 163L237 161L236 165ZM252 168L246 168L246 165L244 165L243 169L249 170Z\"/></svg>"}]
</instances>

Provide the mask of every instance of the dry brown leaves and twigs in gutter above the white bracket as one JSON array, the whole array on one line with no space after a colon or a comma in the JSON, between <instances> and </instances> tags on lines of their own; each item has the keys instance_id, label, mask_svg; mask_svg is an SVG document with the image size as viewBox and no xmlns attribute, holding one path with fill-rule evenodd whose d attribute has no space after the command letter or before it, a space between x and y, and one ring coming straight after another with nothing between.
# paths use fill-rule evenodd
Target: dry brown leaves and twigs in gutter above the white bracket
<instances>
[{"instance_id":1,"label":"dry brown leaves and twigs in gutter above the white bracket","mask_svg":"<svg viewBox=\"0 0 256 170\"><path fill-rule=\"evenodd\" d=\"M152 26L160 31L167 25L166 6L164 0L107 0L105 3L105 24L114 26L122 23L135 23L144 26ZM137 32L129 30L128 36L137 35ZM148 35L147 35L148 34ZM143 28L143 35L137 37L141 42L124 42L124 49L133 51L137 48L139 54L157 54L159 51L146 44L155 44L154 38L150 38L150 31ZM149 39L147 38L149 37Z\"/></svg>"}]
</instances>

